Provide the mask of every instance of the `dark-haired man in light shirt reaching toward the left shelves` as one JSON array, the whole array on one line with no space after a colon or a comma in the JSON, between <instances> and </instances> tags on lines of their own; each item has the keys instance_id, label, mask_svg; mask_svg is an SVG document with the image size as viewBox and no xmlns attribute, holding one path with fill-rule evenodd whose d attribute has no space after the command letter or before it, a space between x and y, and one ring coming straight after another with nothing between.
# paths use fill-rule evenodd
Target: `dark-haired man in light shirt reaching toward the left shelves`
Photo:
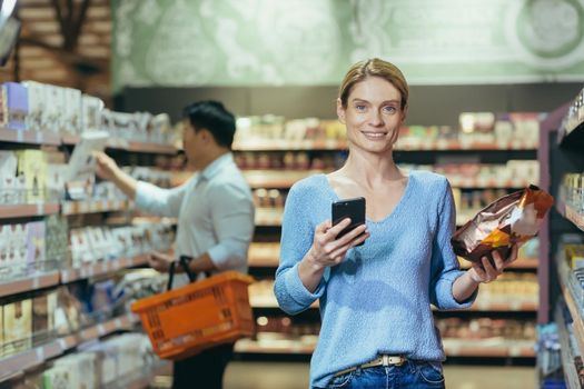
<instances>
[{"instance_id":1,"label":"dark-haired man in light shirt reaching toward the left shelves","mask_svg":"<svg viewBox=\"0 0 584 389\"><path fill-rule=\"evenodd\" d=\"M105 153L97 156L97 173L112 181L140 209L178 219L175 256L152 253L152 268L168 271L174 260L188 256L192 258L189 268L198 279L225 270L247 272L254 202L231 154L235 117L216 101L195 102L185 108L182 117L185 154L196 172L180 187L162 189L137 181ZM175 280L175 287L188 282L186 275ZM220 345L176 361L172 388L221 388L232 352L234 343Z\"/></svg>"}]
</instances>

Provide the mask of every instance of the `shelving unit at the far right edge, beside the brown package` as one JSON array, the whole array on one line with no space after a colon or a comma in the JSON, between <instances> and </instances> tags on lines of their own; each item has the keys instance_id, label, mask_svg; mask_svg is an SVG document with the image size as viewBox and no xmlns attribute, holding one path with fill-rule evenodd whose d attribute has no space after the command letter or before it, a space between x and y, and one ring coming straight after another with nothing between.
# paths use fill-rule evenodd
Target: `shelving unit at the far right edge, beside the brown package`
<instances>
[{"instance_id":1,"label":"shelving unit at the far right edge, beside the brown package","mask_svg":"<svg viewBox=\"0 0 584 389\"><path fill-rule=\"evenodd\" d=\"M576 279L575 269L568 265L563 245L567 240L576 241L578 237L582 240L584 217L563 197L565 191L560 188L566 173L584 171L584 122L582 118L580 122L574 121L576 117L573 116L572 126L564 127L568 113L575 113L574 110L568 110L570 104L568 102L551 112L541 128L538 160L542 167L542 187L555 196L556 206L540 232L540 285L543 303L538 321L545 323L553 319L556 322L566 385L568 388L581 388L574 358L582 356L584 351L584 289ZM574 104L577 107L575 101ZM574 341L571 341L571 337Z\"/></svg>"}]
</instances>

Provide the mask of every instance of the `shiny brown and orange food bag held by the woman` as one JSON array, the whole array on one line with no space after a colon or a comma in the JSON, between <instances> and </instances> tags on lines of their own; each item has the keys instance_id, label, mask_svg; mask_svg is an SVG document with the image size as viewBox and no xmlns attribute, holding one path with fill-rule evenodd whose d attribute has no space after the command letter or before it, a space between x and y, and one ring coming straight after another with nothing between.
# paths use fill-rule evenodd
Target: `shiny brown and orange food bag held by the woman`
<instances>
[{"instance_id":1,"label":"shiny brown and orange food bag held by the woman","mask_svg":"<svg viewBox=\"0 0 584 389\"><path fill-rule=\"evenodd\" d=\"M494 250L507 258L512 245L523 245L537 233L553 203L550 193L533 184L504 196L453 235L454 252L472 262L482 257L492 260Z\"/></svg>"}]
</instances>

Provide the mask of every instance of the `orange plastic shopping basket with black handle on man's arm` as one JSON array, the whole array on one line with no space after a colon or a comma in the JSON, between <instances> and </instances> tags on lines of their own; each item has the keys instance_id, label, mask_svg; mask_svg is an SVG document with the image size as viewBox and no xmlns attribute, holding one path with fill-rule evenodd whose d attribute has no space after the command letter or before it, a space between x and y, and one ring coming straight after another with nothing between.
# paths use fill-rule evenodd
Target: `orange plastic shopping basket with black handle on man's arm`
<instances>
[{"instance_id":1,"label":"orange plastic shopping basket with black handle on man's arm","mask_svg":"<svg viewBox=\"0 0 584 389\"><path fill-rule=\"evenodd\" d=\"M180 265L192 281L188 259L181 257ZM226 271L170 290L175 263L170 266L166 292L131 305L160 358L179 360L254 335L247 291L251 277Z\"/></svg>"}]
</instances>

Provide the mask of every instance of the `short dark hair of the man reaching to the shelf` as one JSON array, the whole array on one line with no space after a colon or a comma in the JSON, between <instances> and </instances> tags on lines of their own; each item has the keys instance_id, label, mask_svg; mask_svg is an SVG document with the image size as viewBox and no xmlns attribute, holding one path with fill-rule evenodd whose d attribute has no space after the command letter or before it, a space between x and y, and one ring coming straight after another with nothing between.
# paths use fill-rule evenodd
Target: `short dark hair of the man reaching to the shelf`
<instances>
[{"instance_id":1,"label":"short dark hair of the man reaching to the shelf","mask_svg":"<svg viewBox=\"0 0 584 389\"><path fill-rule=\"evenodd\" d=\"M222 103L214 100L197 101L182 110L195 131L208 130L217 144L231 149L235 136L235 116Z\"/></svg>"}]
</instances>

